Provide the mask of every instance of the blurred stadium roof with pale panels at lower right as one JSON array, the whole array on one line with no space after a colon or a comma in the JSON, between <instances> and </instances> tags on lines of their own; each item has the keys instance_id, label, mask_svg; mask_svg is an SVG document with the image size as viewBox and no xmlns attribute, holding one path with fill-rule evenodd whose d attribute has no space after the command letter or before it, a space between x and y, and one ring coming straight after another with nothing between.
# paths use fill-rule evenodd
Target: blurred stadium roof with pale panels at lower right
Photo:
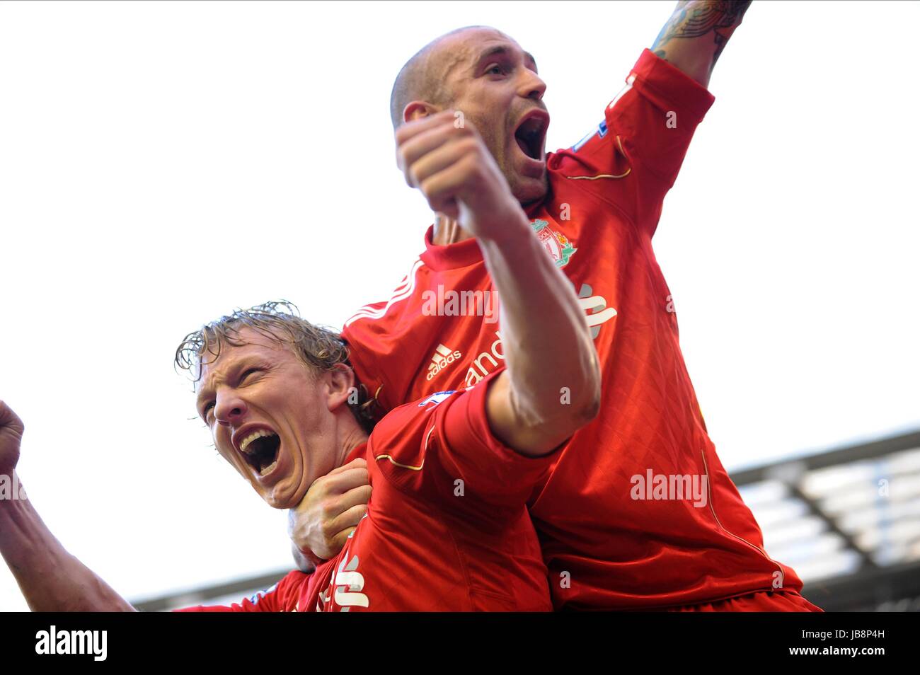
<instances>
[{"instance_id":1,"label":"blurred stadium roof with pale panels at lower right","mask_svg":"<svg viewBox=\"0 0 920 675\"><path fill-rule=\"evenodd\" d=\"M920 431L732 474L804 594L828 611L920 610Z\"/></svg>"}]
</instances>

